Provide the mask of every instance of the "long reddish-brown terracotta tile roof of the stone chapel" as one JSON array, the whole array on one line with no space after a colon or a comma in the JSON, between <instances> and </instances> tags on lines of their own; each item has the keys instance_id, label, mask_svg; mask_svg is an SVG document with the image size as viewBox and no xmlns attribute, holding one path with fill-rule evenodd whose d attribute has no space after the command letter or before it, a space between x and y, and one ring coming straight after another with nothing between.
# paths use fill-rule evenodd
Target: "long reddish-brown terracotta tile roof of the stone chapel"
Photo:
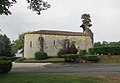
<instances>
[{"instance_id":1,"label":"long reddish-brown terracotta tile roof of the stone chapel","mask_svg":"<svg viewBox=\"0 0 120 83\"><path fill-rule=\"evenodd\" d=\"M84 36L86 33L82 32L69 32L69 31L56 31L56 30L39 30L29 32L27 34L45 34L45 35L65 35L65 36Z\"/></svg>"}]
</instances>

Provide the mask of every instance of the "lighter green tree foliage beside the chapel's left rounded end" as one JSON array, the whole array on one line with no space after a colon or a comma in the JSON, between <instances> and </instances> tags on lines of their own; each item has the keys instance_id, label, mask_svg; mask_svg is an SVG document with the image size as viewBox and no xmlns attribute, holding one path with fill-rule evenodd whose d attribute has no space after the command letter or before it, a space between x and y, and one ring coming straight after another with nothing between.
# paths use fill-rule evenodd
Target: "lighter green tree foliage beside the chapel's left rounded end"
<instances>
[{"instance_id":1,"label":"lighter green tree foliage beside the chapel's left rounded end","mask_svg":"<svg viewBox=\"0 0 120 83\"><path fill-rule=\"evenodd\" d=\"M12 44L12 53L17 53L18 50L23 49L24 48L24 36L26 33L22 33L19 35L18 39L13 41Z\"/></svg>"}]
</instances>

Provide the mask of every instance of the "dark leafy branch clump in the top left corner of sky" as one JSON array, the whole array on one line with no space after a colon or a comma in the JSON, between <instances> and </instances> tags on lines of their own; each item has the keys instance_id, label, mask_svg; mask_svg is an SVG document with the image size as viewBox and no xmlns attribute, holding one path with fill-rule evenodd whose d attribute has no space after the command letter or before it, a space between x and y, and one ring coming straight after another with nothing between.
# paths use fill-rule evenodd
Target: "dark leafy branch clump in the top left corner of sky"
<instances>
[{"instance_id":1,"label":"dark leafy branch clump in the top left corner of sky","mask_svg":"<svg viewBox=\"0 0 120 83\"><path fill-rule=\"evenodd\" d=\"M0 15L5 14L11 14L9 11L9 8L16 3L16 0L0 0Z\"/></svg>"}]
</instances>

